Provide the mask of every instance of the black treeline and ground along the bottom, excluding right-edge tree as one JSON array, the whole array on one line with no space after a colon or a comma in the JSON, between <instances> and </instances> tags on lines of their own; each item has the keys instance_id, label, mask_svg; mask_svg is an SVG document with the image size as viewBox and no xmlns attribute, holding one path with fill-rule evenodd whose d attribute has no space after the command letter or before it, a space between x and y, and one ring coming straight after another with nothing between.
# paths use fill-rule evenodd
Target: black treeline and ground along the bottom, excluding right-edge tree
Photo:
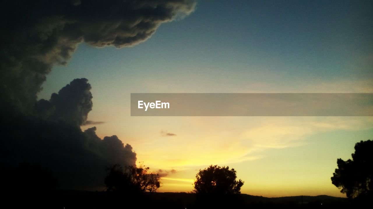
<instances>
[{"instance_id":1,"label":"black treeline and ground along the bottom, excluding right-edge tree","mask_svg":"<svg viewBox=\"0 0 373 209\"><path fill-rule=\"evenodd\" d=\"M160 177L148 172L148 167L107 167L102 191L59 190L53 172L40 165L22 163L2 168L2 185L7 189L3 203L14 207L38 208L261 208L292 207L321 208L325 206L358 206L357 198L326 195L262 197L241 194L243 181L236 180L235 170L229 167L210 167L200 170L191 193L160 193ZM230 179L230 180L229 180ZM211 181L212 180L212 181ZM210 184L209 184L210 183ZM223 185L217 187L217 185ZM203 188L206 187L206 188ZM231 187L229 189L228 187ZM222 189L223 188L223 189ZM149 191L149 192L146 192ZM202 192L201 192L202 191ZM231 191L231 192L229 192Z\"/></svg>"}]
</instances>

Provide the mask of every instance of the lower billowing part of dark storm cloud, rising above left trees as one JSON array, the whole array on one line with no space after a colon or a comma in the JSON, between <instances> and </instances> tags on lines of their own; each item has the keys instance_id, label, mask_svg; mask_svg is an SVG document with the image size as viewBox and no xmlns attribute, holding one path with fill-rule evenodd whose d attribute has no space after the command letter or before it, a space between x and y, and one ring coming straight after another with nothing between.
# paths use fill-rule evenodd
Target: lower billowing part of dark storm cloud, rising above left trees
<instances>
[{"instance_id":1,"label":"lower billowing part of dark storm cloud, rising above left trees","mask_svg":"<svg viewBox=\"0 0 373 209\"><path fill-rule=\"evenodd\" d=\"M134 165L136 153L116 135L100 139L96 127L81 131L92 109L91 85L75 79L50 100L39 100L30 114L3 114L1 165L30 162L53 171L62 189L96 190L105 167Z\"/></svg>"}]
</instances>

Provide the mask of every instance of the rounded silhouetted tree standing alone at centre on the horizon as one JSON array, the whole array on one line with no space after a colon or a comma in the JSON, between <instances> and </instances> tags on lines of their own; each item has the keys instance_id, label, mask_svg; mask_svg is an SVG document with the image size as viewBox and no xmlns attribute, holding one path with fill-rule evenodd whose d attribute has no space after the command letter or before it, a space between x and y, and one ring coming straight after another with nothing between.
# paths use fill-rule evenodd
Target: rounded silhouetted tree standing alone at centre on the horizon
<instances>
[{"instance_id":1,"label":"rounded silhouetted tree standing alone at centre on the horizon","mask_svg":"<svg viewBox=\"0 0 373 209\"><path fill-rule=\"evenodd\" d=\"M198 194L237 194L241 193L244 181L236 181L236 171L229 167L210 165L200 170L194 182L193 192Z\"/></svg>"}]
</instances>

